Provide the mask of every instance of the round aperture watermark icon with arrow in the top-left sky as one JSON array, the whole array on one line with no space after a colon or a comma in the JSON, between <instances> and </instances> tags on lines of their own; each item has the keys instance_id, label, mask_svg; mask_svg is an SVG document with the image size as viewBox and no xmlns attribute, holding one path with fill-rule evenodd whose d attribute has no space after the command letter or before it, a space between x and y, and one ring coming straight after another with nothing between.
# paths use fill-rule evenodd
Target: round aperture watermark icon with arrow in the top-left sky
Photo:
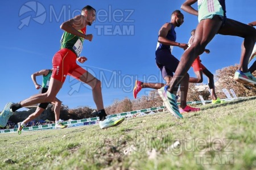
<instances>
[{"instance_id":1,"label":"round aperture watermark icon with arrow in the top-left sky","mask_svg":"<svg viewBox=\"0 0 256 170\"><path fill-rule=\"evenodd\" d=\"M32 15L31 12L33 12L34 15ZM19 16L24 16L28 13L30 15L27 15L25 18L20 20L21 23L18 27L19 29L22 29L25 25L28 26L31 19L39 24L43 24L46 21L46 8L44 8L44 6L39 2L27 2L19 10Z\"/></svg>"}]
</instances>

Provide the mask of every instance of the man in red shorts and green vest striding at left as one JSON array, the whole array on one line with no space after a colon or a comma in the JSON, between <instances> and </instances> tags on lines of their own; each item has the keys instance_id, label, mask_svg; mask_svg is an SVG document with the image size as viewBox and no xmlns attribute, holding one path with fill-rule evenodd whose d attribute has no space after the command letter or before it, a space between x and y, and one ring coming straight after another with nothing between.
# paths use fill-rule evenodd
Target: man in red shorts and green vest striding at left
<instances>
[{"instance_id":1,"label":"man in red shorts and green vest striding at left","mask_svg":"<svg viewBox=\"0 0 256 170\"><path fill-rule=\"evenodd\" d=\"M44 94L31 96L19 103L7 103L0 114L0 126L4 127L9 117L19 108L37 103L51 103L60 91L67 75L71 75L92 87L93 100L100 117L100 128L106 129L121 124L124 118L108 117L104 110L101 81L77 65L76 61L84 63L87 58L79 57L84 40L92 41L93 35L86 35L86 26L92 25L96 18L96 10L91 6L82 8L81 14L61 24L64 30L61 37L61 49L52 59L53 73L49 82L48 91Z\"/></svg>"}]
</instances>

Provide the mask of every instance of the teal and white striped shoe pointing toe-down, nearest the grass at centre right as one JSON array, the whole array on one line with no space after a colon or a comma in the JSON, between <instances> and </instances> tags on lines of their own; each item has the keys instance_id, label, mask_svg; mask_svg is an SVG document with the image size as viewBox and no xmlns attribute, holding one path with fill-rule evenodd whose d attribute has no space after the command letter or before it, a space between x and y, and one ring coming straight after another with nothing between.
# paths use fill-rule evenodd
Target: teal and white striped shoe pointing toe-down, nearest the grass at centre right
<instances>
[{"instance_id":1,"label":"teal and white striped shoe pointing toe-down, nearest the grass at centre right","mask_svg":"<svg viewBox=\"0 0 256 170\"><path fill-rule=\"evenodd\" d=\"M169 112L174 114L176 118L183 118L183 116L180 114L179 108L177 107L176 96L168 92L167 88L168 86L164 86L158 89L158 94L162 98L164 105L166 105Z\"/></svg>"}]
</instances>

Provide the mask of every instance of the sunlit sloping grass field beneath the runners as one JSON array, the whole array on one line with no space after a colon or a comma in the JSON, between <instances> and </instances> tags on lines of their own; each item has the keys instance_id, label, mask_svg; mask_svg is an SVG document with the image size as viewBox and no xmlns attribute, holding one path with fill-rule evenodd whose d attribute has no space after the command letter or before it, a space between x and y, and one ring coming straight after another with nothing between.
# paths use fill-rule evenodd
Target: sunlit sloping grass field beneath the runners
<instances>
[{"instance_id":1,"label":"sunlit sloping grass field beneath the runners","mask_svg":"<svg viewBox=\"0 0 256 170\"><path fill-rule=\"evenodd\" d=\"M0 134L0 169L256 169L256 97L201 111Z\"/></svg>"}]
</instances>

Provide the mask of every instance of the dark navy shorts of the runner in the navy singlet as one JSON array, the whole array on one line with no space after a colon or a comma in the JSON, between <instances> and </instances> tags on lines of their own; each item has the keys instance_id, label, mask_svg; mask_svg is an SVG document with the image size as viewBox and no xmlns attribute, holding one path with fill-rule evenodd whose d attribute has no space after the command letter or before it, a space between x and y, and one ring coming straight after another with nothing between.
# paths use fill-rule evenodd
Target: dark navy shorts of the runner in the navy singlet
<instances>
[{"instance_id":1,"label":"dark navy shorts of the runner in the navy singlet","mask_svg":"<svg viewBox=\"0 0 256 170\"><path fill-rule=\"evenodd\" d=\"M172 56L169 49L158 49L155 52L156 65L158 65L163 79L166 76L174 76L174 73L179 65L179 59Z\"/></svg>"}]
</instances>

